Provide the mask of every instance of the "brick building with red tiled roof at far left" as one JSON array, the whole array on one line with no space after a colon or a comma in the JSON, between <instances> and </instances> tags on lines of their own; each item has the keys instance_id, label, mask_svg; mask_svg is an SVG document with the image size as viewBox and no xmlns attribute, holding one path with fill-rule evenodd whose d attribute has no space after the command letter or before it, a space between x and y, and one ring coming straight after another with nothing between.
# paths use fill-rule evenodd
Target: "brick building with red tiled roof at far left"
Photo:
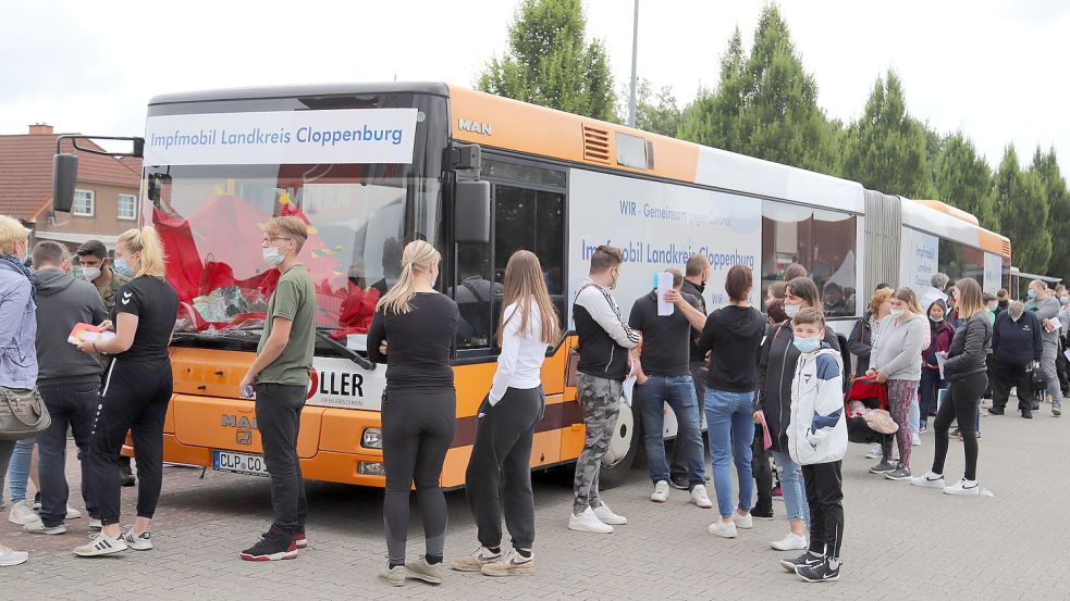
<instances>
[{"instance_id":1,"label":"brick building with red tiled roof at far left","mask_svg":"<svg viewBox=\"0 0 1070 601\"><path fill-rule=\"evenodd\" d=\"M113 248L119 234L138 224L140 159L78 154L78 180L70 213L52 211L52 126L0 135L0 214L20 220L34 240L56 240L70 250L96 238ZM79 146L94 147L79 141ZM70 145L63 149L70 152Z\"/></svg>"}]
</instances>

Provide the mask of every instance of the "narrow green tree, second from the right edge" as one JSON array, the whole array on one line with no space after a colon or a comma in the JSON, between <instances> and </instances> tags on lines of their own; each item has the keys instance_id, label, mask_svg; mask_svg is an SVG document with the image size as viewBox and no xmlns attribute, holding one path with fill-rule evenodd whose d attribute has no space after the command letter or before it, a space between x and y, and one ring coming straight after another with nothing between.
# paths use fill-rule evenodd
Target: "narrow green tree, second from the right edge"
<instances>
[{"instance_id":1,"label":"narrow green tree, second from the right edge","mask_svg":"<svg viewBox=\"0 0 1070 601\"><path fill-rule=\"evenodd\" d=\"M1010 145L995 179L1000 233L1010 238L1014 264L1023 272L1043 274L1051 256L1051 233L1041 177L1021 170Z\"/></svg>"}]
</instances>

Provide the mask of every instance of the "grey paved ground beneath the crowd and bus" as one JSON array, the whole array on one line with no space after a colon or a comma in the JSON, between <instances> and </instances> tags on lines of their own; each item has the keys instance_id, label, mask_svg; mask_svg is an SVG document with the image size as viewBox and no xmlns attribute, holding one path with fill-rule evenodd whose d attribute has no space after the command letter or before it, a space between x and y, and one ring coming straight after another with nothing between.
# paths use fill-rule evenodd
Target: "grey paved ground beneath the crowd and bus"
<instances>
[{"instance_id":1,"label":"grey paved ground beneath the crowd and bus","mask_svg":"<svg viewBox=\"0 0 1070 601\"><path fill-rule=\"evenodd\" d=\"M451 572L445 584L411 581L393 589L376 574L385 561L382 493L309 483L310 548L295 561L237 559L270 522L266 479L169 466L148 552L76 559L87 519L66 535L27 535L5 519L0 540L32 552L30 561L0 568L3 599L1067 599L1070 516L1061 502L1067 417L1046 409L1033 421L982 420L982 485L991 498L955 498L865 473L871 460L852 446L844 467L845 566L838 583L808 585L784 572L768 541L786 533L782 518L755 521L734 540L706 533L715 510L648 501L642 471L603 497L630 523L612 535L565 528L570 484L561 473L536 484L536 556L531 577L493 579ZM914 448L914 472L932 461L933 436ZM962 452L951 442L947 475L961 476ZM72 483L76 478L71 479ZM123 489L133 515L134 489ZM713 490L711 487L711 496ZM72 497L74 498L74 497ZM447 494L446 561L476 547L463 491ZM783 515L779 503L775 511ZM422 549L414 511L410 554ZM791 596L791 597L785 597Z\"/></svg>"}]
</instances>

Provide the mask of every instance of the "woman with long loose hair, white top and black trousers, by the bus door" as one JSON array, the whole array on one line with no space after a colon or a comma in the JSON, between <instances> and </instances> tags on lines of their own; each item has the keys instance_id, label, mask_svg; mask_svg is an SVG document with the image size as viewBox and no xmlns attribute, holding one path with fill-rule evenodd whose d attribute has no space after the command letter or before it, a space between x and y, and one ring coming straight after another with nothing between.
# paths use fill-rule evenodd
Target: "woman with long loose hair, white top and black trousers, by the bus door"
<instances>
[{"instance_id":1,"label":"woman with long loose hair, white top and black trousers, by the bus door","mask_svg":"<svg viewBox=\"0 0 1070 601\"><path fill-rule=\"evenodd\" d=\"M546 347L561 336L561 322L546 291L539 258L519 250L505 267L505 299L497 328L502 353L483 406L479 409L465 488L480 547L453 563L454 569L488 576L534 574L534 498L531 441L545 397L540 372ZM502 501L513 550L502 552Z\"/></svg>"}]
</instances>

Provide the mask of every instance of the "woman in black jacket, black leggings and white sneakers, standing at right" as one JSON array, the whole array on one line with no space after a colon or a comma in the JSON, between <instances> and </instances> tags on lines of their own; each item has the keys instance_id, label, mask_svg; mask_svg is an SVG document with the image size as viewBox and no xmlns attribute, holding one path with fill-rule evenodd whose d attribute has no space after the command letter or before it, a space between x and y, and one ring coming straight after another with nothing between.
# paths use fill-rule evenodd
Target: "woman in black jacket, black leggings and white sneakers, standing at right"
<instances>
[{"instance_id":1,"label":"woman in black jacket, black leggings and white sneakers, standing at right","mask_svg":"<svg viewBox=\"0 0 1070 601\"><path fill-rule=\"evenodd\" d=\"M936 412L936 455L933 469L914 478L910 484L928 488L943 488L947 494L981 494L977 484L977 437L974 427L981 395L988 387L985 358L992 345L992 325L981 300L981 286L975 279L964 278L955 283L961 326L951 339L951 350L944 362L944 377L950 388L944 404ZM944 460L947 458L947 430L955 420L962 431L962 449L966 451L966 474L958 483L944 487Z\"/></svg>"}]
</instances>

